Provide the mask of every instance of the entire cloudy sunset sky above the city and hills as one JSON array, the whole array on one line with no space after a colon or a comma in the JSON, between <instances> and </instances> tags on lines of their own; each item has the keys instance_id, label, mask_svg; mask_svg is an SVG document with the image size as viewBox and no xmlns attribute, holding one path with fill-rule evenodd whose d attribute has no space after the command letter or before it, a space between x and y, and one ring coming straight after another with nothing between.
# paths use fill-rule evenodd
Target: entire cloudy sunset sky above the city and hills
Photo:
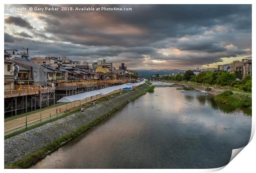
<instances>
[{"instance_id":1,"label":"entire cloudy sunset sky above the city and hills","mask_svg":"<svg viewBox=\"0 0 256 173\"><path fill-rule=\"evenodd\" d=\"M52 6L59 11L28 10ZM106 59L130 69L209 68L251 56L251 5L5 5L7 45L28 47L32 57Z\"/></svg>"}]
</instances>

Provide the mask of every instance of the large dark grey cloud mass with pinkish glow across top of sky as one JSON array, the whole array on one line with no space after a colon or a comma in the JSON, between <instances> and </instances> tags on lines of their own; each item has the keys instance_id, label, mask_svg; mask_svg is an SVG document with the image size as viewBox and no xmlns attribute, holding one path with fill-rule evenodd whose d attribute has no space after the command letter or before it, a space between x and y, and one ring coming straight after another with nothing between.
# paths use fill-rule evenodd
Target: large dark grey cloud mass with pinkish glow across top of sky
<instances>
[{"instance_id":1,"label":"large dark grey cloud mass with pinkish glow across top of sky","mask_svg":"<svg viewBox=\"0 0 256 173\"><path fill-rule=\"evenodd\" d=\"M62 12L58 15L50 12L41 19L46 23L46 32L62 41L83 45L148 46L166 37L201 34L207 28L222 24L251 32L249 5L122 6L133 7L133 11ZM65 18L60 20L60 14L65 14ZM123 29L126 30L120 33Z\"/></svg>"}]
</instances>

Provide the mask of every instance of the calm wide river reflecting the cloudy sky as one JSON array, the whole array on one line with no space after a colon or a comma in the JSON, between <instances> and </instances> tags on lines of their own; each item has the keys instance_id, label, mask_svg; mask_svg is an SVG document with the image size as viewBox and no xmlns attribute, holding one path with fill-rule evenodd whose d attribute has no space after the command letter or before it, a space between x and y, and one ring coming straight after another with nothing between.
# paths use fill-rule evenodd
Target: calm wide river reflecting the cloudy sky
<instances>
[{"instance_id":1,"label":"calm wide river reflecting the cloudy sky","mask_svg":"<svg viewBox=\"0 0 256 173\"><path fill-rule=\"evenodd\" d=\"M218 168L250 134L241 110L200 91L156 87L31 168Z\"/></svg>"}]
</instances>

